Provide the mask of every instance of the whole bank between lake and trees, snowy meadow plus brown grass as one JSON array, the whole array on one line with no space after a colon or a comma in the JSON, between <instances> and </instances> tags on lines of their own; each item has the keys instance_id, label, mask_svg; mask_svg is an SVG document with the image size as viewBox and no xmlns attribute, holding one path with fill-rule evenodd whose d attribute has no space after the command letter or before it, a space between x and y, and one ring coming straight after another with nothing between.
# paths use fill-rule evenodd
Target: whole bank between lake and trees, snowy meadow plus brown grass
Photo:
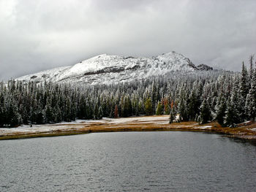
<instances>
[{"instance_id":1,"label":"whole bank between lake and trees, snowy meadow plus brown grass","mask_svg":"<svg viewBox=\"0 0 256 192\"><path fill-rule=\"evenodd\" d=\"M76 120L69 123L0 128L0 140L28 139L35 137L58 137L97 132L124 131L195 131L222 134L225 137L256 141L256 123L238 128L222 128L219 123L199 125L195 121L171 123L169 115L142 116L134 118L103 118L102 120Z\"/></svg>"}]
</instances>

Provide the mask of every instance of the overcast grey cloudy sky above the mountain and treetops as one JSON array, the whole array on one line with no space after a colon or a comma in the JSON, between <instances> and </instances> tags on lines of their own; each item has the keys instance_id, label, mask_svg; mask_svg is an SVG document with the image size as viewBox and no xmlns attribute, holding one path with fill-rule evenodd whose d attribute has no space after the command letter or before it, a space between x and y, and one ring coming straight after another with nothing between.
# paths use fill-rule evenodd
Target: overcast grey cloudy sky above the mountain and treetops
<instances>
[{"instance_id":1,"label":"overcast grey cloudy sky above the mountain and treetops","mask_svg":"<svg viewBox=\"0 0 256 192\"><path fill-rule=\"evenodd\" d=\"M256 1L0 0L0 80L102 53L172 50L240 70L256 53Z\"/></svg>"}]
</instances>

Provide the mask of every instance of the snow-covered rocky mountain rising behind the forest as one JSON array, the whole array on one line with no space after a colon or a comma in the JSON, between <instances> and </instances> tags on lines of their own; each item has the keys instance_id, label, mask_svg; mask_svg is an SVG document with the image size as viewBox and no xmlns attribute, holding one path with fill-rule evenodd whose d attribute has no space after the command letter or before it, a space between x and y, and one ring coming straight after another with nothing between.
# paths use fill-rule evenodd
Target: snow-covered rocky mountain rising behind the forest
<instances>
[{"instance_id":1,"label":"snow-covered rocky mountain rising behind the forest","mask_svg":"<svg viewBox=\"0 0 256 192\"><path fill-rule=\"evenodd\" d=\"M204 64L195 66L189 58L174 51L151 58L103 54L81 61L74 66L29 74L16 80L108 84L113 81L125 82L173 72L187 73L204 70L212 70L212 68Z\"/></svg>"}]
</instances>

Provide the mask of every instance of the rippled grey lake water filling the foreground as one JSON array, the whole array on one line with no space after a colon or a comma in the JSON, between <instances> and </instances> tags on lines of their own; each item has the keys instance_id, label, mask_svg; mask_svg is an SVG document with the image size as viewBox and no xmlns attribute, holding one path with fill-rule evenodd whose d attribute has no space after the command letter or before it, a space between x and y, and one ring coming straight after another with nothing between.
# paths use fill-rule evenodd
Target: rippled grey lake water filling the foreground
<instances>
[{"instance_id":1,"label":"rippled grey lake water filling the foreground","mask_svg":"<svg viewBox=\"0 0 256 192\"><path fill-rule=\"evenodd\" d=\"M0 191L256 191L256 146L193 132L0 141Z\"/></svg>"}]
</instances>

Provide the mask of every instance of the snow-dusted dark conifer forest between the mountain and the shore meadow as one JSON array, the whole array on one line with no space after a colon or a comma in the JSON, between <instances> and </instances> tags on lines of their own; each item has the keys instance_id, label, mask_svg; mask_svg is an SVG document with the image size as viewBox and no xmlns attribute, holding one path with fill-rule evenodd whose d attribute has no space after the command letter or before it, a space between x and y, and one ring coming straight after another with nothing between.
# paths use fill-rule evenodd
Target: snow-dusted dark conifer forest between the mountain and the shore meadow
<instances>
[{"instance_id":1,"label":"snow-dusted dark conifer forest between the mountain and the shore meadow","mask_svg":"<svg viewBox=\"0 0 256 192\"><path fill-rule=\"evenodd\" d=\"M75 119L170 115L170 123L217 120L236 126L256 116L256 69L240 73L165 75L115 85L0 82L0 127L59 123Z\"/></svg>"}]
</instances>

